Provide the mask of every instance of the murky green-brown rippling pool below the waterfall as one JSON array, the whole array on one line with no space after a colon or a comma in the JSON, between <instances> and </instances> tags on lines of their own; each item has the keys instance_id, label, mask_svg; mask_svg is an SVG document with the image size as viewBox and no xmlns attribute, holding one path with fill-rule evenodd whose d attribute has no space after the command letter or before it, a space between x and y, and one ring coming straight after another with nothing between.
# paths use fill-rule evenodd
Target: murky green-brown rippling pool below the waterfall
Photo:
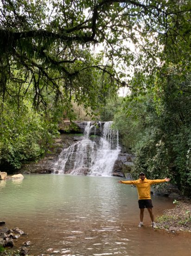
<instances>
[{"instance_id":1,"label":"murky green-brown rippling pool below the waterfall","mask_svg":"<svg viewBox=\"0 0 191 256\"><path fill-rule=\"evenodd\" d=\"M30 254L67 256L191 255L191 234L167 234L150 227L145 211L138 228L137 192L114 177L25 175L0 182L0 220L28 233ZM173 207L153 196L154 214Z\"/></svg>"}]
</instances>

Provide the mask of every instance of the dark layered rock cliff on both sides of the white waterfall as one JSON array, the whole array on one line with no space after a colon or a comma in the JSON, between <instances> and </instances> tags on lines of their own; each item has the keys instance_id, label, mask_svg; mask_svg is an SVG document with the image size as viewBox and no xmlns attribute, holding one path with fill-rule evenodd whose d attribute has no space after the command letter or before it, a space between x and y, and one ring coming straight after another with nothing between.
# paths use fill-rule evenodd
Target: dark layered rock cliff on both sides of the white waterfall
<instances>
[{"instance_id":1,"label":"dark layered rock cliff on both sides of the white waterfall","mask_svg":"<svg viewBox=\"0 0 191 256\"><path fill-rule=\"evenodd\" d=\"M91 122L95 129L91 130L93 135L101 135L102 130L100 127L103 122ZM86 121L75 121L70 123L70 121L63 121L60 124L59 131L60 136L54 141L49 152L45 155L43 159L39 162L32 162L24 164L19 172L29 172L29 173L52 173L54 171L55 162L57 162L58 156L64 148L70 147L72 144L76 143L82 139L84 129L87 125ZM75 134L76 133L76 134ZM121 152L115 161L114 168L112 171L113 176L124 177L125 173L131 171L134 161L134 155ZM69 168L70 169L70 168ZM88 172L82 170L82 174L86 175Z\"/></svg>"}]
</instances>

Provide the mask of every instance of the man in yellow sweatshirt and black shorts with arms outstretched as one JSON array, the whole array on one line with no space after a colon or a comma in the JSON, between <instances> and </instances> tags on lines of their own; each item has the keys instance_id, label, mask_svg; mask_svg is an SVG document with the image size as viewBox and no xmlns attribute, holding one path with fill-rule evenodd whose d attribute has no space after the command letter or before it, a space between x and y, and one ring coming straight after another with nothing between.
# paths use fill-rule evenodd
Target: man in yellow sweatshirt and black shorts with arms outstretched
<instances>
[{"instance_id":1,"label":"man in yellow sweatshirt and black shorts with arms outstretched","mask_svg":"<svg viewBox=\"0 0 191 256\"><path fill-rule=\"evenodd\" d=\"M140 208L140 223L138 227L143 226L143 215L144 209L146 208L149 212L152 221L152 227L156 228L156 224L154 222L153 216L153 204L151 201L151 185L161 183L161 182L169 182L171 179L165 178L163 180L147 180L146 176L143 172L139 175L139 180L136 181L119 181L119 183L123 184L133 184L137 187L137 192L139 195L139 208Z\"/></svg>"}]
</instances>

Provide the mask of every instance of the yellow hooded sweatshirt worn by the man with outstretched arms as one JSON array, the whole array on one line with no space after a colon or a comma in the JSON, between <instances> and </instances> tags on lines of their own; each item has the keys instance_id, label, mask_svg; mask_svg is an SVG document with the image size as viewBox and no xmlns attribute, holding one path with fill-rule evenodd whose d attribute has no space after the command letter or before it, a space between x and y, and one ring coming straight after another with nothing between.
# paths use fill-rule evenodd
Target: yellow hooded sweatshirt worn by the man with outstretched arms
<instances>
[{"instance_id":1,"label":"yellow hooded sweatshirt worn by the man with outstretched arms","mask_svg":"<svg viewBox=\"0 0 191 256\"><path fill-rule=\"evenodd\" d=\"M137 192L139 195L139 200L142 199L151 199L151 185L166 182L165 179L163 180L147 180L146 178L144 181L141 179L136 181L121 181L123 184L133 184L137 187Z\"/></svg>"}]
</instances>

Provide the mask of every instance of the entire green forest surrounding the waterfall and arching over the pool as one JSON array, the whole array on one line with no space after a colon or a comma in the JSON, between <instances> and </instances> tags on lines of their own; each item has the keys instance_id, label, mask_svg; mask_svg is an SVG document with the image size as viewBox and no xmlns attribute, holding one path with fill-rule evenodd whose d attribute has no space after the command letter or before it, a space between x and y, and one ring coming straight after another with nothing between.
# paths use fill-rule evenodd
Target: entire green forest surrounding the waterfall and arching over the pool
<instances>
[{"instance_id":1,"label":"entire green forest surrounding the waterfall and arching over the pool","mask_svg":"<svg viewBox=\"0 0 191 256\"><path fill-rule=\"evenodd\" d=\"M42 158L63 119L113 121L134 178L191 195L191 1L1 0L0 170Z\"/></svg>"}]
</instances>

